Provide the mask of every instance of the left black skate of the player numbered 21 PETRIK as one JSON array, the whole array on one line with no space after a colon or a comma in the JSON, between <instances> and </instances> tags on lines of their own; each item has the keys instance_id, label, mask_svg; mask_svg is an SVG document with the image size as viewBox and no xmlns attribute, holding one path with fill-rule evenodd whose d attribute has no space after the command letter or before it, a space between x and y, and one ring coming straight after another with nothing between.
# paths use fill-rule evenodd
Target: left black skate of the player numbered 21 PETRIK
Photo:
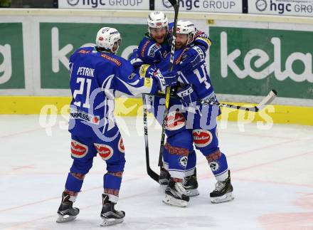
<instances>
[{"instance_id":1,"label":"left black skate of the player numbered 21 PETRIK","mask_svg":"<svg viewBox=\"0 0 313 230\"><path fill-rule=\"evenodd\" d=\"M56 220L58 223L73 221L80 213L80 209L73 208L73 202L69 199L70 195L63 192L62 202L58 209L58 219Z\"/></svg>"}]
</instances>

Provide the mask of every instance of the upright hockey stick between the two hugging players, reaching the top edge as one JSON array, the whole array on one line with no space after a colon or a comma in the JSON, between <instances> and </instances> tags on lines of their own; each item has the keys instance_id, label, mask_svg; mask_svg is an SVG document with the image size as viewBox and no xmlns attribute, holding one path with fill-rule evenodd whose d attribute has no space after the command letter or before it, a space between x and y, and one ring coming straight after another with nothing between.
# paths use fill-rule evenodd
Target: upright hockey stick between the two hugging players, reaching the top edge
<instances>
[{"instance_id":1,"label":"upright hockey stick between the two hugging players, reaching the top edge","mask_svg":"<svg viewBox=\"0 0 313 230\"><path fill-rule=\"evenodd\" d=\"M175 41L176 41L176 26L177 19L179 16L179 5L176 0L169 0L171 5L174 7L174 26L173 26L173 41L171 42L171 53L169 59L169 71L173 70L174 63L174 51L175 51ZM165 95L165 110L163 115L163 123L162 123L162 133L161 133L161 143L160 143L160 152L159 152L159 164L158 166L161 168L163 165L162 156L164 151L164 140L165 140L165 127L166 127L166 117L169 113L169 95L171 94L171 87L166 87L166 95Z\"/></svg>"}]
</instances>

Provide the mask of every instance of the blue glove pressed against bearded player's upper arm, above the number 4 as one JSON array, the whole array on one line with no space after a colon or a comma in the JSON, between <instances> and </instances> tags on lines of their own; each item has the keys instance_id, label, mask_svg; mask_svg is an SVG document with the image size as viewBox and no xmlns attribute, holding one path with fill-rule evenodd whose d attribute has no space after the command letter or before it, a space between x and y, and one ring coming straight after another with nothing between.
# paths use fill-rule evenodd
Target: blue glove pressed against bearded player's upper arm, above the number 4
<instances>
[{"instance_id":1,"label":"blue glove pressed against bearded player's upper arm, above the number 4","mask_svg":"<svg viewBox=\"0 0 313 230\"><path fill-rule=\"evenodd\" d=\"M179 66L181 72L186 74L194 70L196 67L201 66L203 63L203 51L201 51L201 48L193 47L189 48L189 50L184 53Z\"/></svg>"}]
</instances>

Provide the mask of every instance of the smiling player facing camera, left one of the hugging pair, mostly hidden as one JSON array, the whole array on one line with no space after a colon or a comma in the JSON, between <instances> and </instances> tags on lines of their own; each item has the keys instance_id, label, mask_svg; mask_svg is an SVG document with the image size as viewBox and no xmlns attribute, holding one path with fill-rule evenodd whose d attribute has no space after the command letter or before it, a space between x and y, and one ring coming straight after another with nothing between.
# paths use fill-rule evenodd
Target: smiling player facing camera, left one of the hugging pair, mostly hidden
<instances>
[{"instance_id":1,"label":"smiling player facing camera, left one of the hugging pair, mostly hidden","mask_svg":"<svg viewBox=\"0 0 313 230\"><path fill-rule=\"evenodd\" d=\"M168 23L168 19L165 14L161 11L153 11L149 14L148 19L148 33L139 43L138 49L134 50L134 53L131 57L131 63L135 67L140 67L139 73L145 73L149 68L154 68L154 65L157 65L161 60L169 53L171 49L171 27L173 23ZM194 38L192 41L193 46L198 46L205 53L209 46L211 46L211 40L208 38L206 33L196 30L194 33ZM189 60L195 58L195 53L189 53ZM187 56L187 54L186 54ZM189 62L185 61L184 68L188 68ZM145 100L150 100L151 96L146 96ZM161 100L161 105L164 105L162 102L164 98L155 97L155 103L159 103ZM176 101L180 103L179 101ZM156 103L156 104L157 104ZM157 106L159 107L159 106ZM162 106L164 107L164 106ZM157 117L157 110L154 110L154 116ZM158 117L157 117L158 118ZM159 117L161 118L161 117ZM161 123L162 121L158 119ZM166 155L166 152L164 153ZM163 167L161 168L159 183L167 185L169 183L169 172L168 162L166 162L167 157L164 158ZM191 151L189 164L186 168L186 178L184 180L184 186L188 189L190 196L198 195L198 183L196 181L196 153Z\"/></svg>"}]
</instances>

